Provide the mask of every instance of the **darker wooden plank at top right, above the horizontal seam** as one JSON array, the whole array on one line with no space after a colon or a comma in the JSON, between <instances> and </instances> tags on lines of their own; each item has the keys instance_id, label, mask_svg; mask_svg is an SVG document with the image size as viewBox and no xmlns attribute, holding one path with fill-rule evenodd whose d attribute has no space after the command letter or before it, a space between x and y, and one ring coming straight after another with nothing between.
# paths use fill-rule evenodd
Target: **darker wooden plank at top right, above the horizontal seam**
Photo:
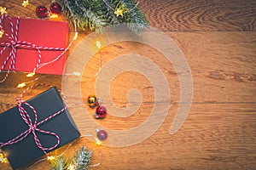
<instances>
[{"instance_id":1,"label":"darker wooden plank at top right, above the horizontal seam","mask_svg":"<svg viewBox=\"0 0 256 170\"><path fill-rule=\"evenodd\" d=\"M255 31L253 0L140 1L150 26L160 31Z\"/></svg>"}]
</instances>

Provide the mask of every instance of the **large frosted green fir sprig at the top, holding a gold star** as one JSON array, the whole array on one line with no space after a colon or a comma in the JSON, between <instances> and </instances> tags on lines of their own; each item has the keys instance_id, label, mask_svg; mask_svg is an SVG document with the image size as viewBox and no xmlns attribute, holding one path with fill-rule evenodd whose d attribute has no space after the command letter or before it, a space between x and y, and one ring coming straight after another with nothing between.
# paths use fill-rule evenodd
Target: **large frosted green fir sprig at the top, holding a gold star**
<instances>
[{"instance_id":1,"label":"large frosted green fir sprig at the top, holding a gold star","mask_svg":"<svg viewBox=\"0 0 256 170\"><path fill-rule=\"evenodd\" d=\"M75 20L81 30L101 32L105 26L126 24L141 34L148 20L134 0L61 0L67 18ZM117 11L121 10L121 13ZM74 19L73 19L74 17Z\"/></svg>"}]
</instances>

